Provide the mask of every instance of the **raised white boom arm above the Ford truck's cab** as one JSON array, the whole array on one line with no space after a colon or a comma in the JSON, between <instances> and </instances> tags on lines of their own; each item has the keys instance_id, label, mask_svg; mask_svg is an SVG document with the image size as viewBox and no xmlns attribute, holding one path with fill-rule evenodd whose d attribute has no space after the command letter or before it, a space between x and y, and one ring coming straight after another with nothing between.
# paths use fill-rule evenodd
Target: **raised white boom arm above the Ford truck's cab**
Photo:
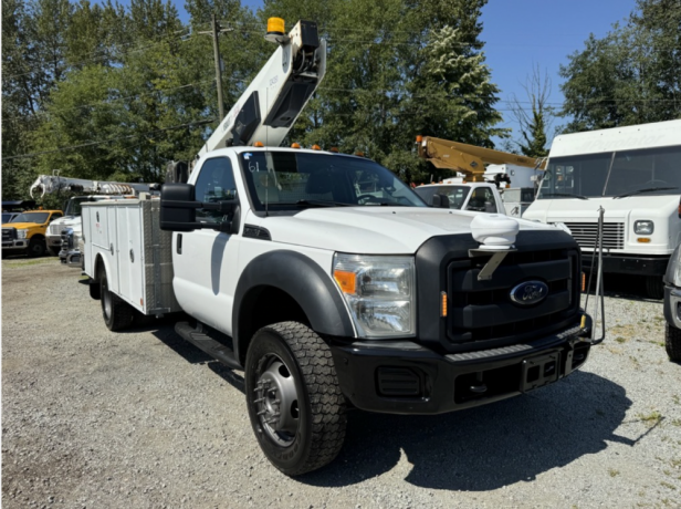
<instances>
[{"instance_id":1,"label":"raised white boom arm above the Ford truck's cab","mask_svg":"<svg viewBox=\"0 0 681 509\"><path fill-rule=\"evenodd\" d=\"M198 156L232 145L279 146L326 72L326 41L298 21L216 128Z\"/></svg>"}]
</instances>

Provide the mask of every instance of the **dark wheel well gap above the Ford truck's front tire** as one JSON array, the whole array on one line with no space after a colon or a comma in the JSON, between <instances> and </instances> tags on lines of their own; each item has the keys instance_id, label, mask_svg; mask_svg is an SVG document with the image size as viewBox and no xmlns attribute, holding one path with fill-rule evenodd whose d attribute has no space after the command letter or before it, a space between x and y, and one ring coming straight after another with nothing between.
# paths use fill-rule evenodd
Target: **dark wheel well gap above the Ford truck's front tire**
<instances>
[{"instance_id":1,"label":"dark wheel well gap above the Ford truck's front tire","mask_svg":"<svg viewBox=\"0 0 681 509\"><path fill-rule=\"evenodd\" d=\"M310 325L303 308L283 290L274 287L252 288L241 302L239 311L239 360L243 365L253 334L265 325L279 322L300 322Z\"/></svg>"}]
</instances>

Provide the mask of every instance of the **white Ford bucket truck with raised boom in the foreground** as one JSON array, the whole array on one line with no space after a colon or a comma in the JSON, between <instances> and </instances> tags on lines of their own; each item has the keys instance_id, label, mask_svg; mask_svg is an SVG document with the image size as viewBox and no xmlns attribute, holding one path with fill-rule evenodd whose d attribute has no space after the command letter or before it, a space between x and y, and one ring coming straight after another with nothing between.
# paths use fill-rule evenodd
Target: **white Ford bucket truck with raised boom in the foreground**
<instances>
[{"instance_id":1,"label":"white Ford bucket truck with raised boom in the foreground","mask_svg":"<svg viewBox=\"0 0 681 509\"><path fill-rule=\"evenodd\" d=\"M566 232L429 208L364 157L250 146L283 138L324 59L316 25L298 23L187 184L83 204L85 272L106 325L186 312L177 333L244 372L255 437L287 475L335 458L350 406L492 403L569 375L591 346Z\"/></svg>"}]
</instances>

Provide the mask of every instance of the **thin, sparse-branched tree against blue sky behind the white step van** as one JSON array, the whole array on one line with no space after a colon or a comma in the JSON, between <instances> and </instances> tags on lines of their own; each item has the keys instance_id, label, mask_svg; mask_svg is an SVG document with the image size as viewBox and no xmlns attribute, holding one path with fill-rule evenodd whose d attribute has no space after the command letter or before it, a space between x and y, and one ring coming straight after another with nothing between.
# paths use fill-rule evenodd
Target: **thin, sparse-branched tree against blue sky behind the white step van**
<instances>
[{"instance_id":1,"label":"thin, sparse-branched tree against blue sky behind the white step van","mask_svg":"<svg viewBox=\"0 0 681 509\"><path fill-rule=\"evenodd\" d=\"M521 131L521 141L515 144L521 153L528 157L546 157L547 133L553 123L554 107L549 104L551 79L545 75L538 65L531 76L527 76L523 85L527 97L522 102L515 96L511 98L511 110ZM528 104L530 107L525 106Z\"/></svg>"}]
</instances>

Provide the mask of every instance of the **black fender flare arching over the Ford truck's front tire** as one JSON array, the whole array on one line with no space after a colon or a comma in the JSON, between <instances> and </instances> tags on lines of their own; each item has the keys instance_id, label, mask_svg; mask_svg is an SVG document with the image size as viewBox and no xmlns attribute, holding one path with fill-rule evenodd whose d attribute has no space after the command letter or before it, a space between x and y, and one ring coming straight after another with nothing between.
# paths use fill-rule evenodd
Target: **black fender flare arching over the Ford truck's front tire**
<instances>
[{"instance_id":1,"label":"black fender flare arching over the Ford truck's front tire","mask_svg":"<svg viewBox=\"0 0 681 509\"><path fill-rule=\"evenodd\" d=\"M241 357L240 345L248 344L250 341L250 337L241 337L240 316L244 313L264 311L254 309L252 301L244 299L250 290L258 287L276 288L291 295L301 307L315 332L355 337L353 320L331 274L324 272L311 258L298 252L270 251L251 260L237 284L232 310L232 332L237 359Z\"/></svg>"}]
</instances>

